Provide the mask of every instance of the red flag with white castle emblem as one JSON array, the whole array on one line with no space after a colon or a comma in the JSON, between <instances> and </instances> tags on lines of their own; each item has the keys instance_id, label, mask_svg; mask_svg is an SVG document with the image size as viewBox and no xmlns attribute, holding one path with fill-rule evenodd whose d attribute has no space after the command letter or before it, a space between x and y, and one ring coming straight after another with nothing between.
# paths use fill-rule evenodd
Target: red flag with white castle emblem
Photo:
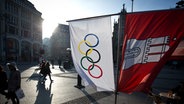
<instances>
[{"instance_id":1,"label":"red flag with white castle emblem","mask_svg":"<svg viewBox=\"0 0 184 104\"><path fill-rule=\"evenodd\" d=\"M118 91L150 90L154 79L184 35L184 10L126 15Z\"/></svg>"}]
</instances>

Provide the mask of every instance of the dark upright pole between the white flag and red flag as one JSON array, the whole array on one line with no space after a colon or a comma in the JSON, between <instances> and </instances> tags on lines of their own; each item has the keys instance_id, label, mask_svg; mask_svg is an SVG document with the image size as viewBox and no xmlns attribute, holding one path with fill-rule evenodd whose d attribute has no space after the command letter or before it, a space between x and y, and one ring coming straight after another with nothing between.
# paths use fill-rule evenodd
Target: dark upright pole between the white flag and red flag
<instances>
[{"instance_id":1,"label":"dark upright pole between the white flag and red flag","mask_svg":"<svg viewBox=\"0 0 184 104\"><path fill-rule=\"evenodd\" d=\"M124 35L124 24L125 24L125 4L123 4L123 9L120 13L119 23L118 23L118 44L117 44L117 69L116 69L116 90L115 90L115 104L117 104L117 94L118 94L118 79L119 79L119 71L121 65L121 45L120 42L123 42ZM122 48L121 48L122 49Z\"/></svg>"}]
</instances>

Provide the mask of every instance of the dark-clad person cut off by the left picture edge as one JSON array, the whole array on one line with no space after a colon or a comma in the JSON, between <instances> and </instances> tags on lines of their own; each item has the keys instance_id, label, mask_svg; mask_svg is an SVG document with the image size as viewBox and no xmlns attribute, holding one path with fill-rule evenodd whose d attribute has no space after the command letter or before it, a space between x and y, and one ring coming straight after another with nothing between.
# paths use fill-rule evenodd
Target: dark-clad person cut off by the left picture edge
<instances>
[{"instance_id":1,"label":"dark-clad person cut off by the left picture edge","mask_svg":"<svg viewBox=\"0 0 184 104\"><path fill-rule=\"evenodd\" d=\"M3 69L3 66L0 65L0 94L7 97L8 93L5 90L8 89L8 79L6 72Z\"/></svg>"}]
</instances>

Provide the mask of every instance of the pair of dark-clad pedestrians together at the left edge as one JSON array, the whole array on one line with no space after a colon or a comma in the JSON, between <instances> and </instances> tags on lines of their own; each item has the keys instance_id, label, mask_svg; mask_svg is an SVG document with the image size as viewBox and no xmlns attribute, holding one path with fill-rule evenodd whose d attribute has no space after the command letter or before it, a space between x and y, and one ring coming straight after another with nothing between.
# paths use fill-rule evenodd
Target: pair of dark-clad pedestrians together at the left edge
<instances>
[{"instance_id":1,"label":"pair of dark-clad pedestrians together at the left edge","mask_svg":"<svg viewBox=\"0 0 184 104\"><path fill-rule=\"evenodd\" d=\"M13 104L19 104L16 91L21 88L21 74L16 63L7 63L7 67L10 71L8 77L3 66L0 65L0 93L4 95L7 100L11 99Z\"/></svg>"}]
</instances>

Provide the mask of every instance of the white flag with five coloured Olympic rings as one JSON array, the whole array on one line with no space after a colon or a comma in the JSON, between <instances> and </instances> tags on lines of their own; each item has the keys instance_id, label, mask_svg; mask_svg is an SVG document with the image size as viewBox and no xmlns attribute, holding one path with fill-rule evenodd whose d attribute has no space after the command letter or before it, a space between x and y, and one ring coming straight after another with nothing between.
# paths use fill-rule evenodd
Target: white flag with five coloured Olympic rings
<instances>
[{"instance_id":1,"label":"white flag with five coloured Olympic rings","mask_svg":"<svg viewBox=\"0 0 184 104\"><path fill-rule=\"evenodd\" d=\"M97 91L114 91L111 17L71 21L69 27L78 74Z\"/></svg>"}]
</instances>

